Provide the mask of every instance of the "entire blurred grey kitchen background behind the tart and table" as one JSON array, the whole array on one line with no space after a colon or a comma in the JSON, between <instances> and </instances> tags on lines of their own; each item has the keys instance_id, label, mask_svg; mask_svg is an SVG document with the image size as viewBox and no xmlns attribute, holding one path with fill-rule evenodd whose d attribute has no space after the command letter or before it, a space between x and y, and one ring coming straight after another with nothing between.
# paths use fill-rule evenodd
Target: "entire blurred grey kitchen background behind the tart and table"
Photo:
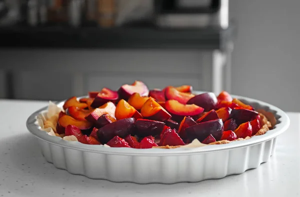
<instances>
[{"instance_id":1,"label":"entire blurred grey kitchen background behind the tart and table","mask_svg":"<svg viewBox=\"0 0 300 197\"><path fill-rule=\"evenodd\" d=\"M134 80L300 111L300 1L0 0L0 98L61 100Z\"/></svg>"}]
</instances>

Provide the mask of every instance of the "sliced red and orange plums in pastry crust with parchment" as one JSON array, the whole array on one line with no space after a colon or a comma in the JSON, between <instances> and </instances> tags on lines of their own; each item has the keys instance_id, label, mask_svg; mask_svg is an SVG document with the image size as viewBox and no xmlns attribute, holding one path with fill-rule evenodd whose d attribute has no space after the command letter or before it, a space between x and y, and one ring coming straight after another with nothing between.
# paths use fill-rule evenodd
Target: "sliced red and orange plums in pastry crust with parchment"
<instances>
[{"instance_id":1,"label":"sliced red and orange plums in pastry crust with parchment","mask_svg":"<svg viewBox=\"0 0 300 197\"><path fill-rule=\"evenodd\" d=\"M36 124L63 140L128 148L226 144L263 135L276 124L272 113L225 91L193 95L191 90L184 85L149 91L140 81L118 91L103 88L85 99L69 98L63 109L49 102Z\"/></svg>"}]
</instances>

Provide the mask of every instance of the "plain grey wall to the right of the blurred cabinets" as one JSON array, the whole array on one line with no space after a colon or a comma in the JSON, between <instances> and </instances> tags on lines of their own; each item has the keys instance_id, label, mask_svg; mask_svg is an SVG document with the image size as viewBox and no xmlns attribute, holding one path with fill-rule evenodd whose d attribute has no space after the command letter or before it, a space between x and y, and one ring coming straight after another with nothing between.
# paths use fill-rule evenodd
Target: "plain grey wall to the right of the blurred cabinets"
<instances>
[{"instance_id":1,"label":"plain grey wall to the right of the blurred cabinets","mask_svg":"<svg viewBox=\"0 0 300 197\"><path fill-rule=\"evenodd\" d=\"M230 0L231 92L300 111L300 1Z\"/></svg>"}]
</instances>

